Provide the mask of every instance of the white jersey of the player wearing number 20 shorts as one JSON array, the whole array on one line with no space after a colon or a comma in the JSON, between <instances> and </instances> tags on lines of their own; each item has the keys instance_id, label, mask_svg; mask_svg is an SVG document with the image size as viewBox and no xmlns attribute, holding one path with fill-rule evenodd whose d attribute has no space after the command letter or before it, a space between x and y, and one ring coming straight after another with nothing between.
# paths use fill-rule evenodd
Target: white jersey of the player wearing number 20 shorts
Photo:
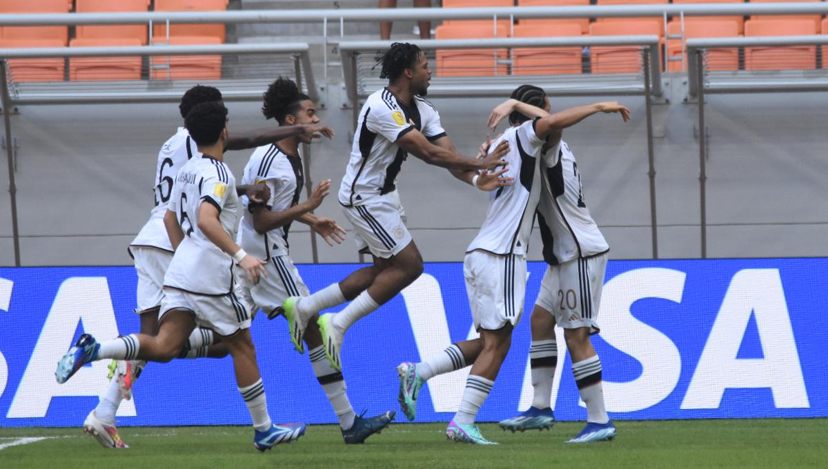
<instances>
[{"instance_id":1,"label":"white jersey of the player wearing number 20 shorts","mask_svg":"<svg viewBox=\"0 0 828 469\"><path fill-rule=\"evenodd\" d=\"M586 208L578 163L565 141L546 151L541 170L537 223L543 241L543 260L556 266L608 251L609 244Z\"/></svg>"}]
</instances>

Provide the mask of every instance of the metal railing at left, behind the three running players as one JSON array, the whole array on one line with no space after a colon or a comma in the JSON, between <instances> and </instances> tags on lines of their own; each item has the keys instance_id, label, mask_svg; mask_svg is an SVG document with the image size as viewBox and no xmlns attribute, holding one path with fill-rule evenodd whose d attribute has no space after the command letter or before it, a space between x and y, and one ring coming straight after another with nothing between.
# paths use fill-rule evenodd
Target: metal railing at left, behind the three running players
<instances>
[{"instance_id":1,"label":"metal railing at left, behind the three running players","mask_svg":"<svg viewBox=\"0 0 828 469\"><path fill-rule=\"evenodd\" d=\"M142 45L132 47L55 47L44 49L0 49L0 99L6 141L12 141L10 114L22 104L77 103L161 103L177 102L193 80L143 79L122 81L52 82L13 84L9 81L9 60L89 57L175 57L183 55L267 55L286 56L289 60L284 74L294 75L296 84L311 99L318 100L307 43L291 44L224 44L224 45ZM275 69L280 70L280 69ZM291 73L292 72L292 73ZM274 74L258 79L222 79L219 81L225 101L259 100L262 90L272 82ZM208 83L203 79L198 83ZM17 187L15 184L14 150L6 145L10 202L12 204L12 237L15 266L20 266L20 234L17 226ZM310 187L310 184L308 184ZM312 240L313 241L313 240Z\"/></svg>"}]
</instances>

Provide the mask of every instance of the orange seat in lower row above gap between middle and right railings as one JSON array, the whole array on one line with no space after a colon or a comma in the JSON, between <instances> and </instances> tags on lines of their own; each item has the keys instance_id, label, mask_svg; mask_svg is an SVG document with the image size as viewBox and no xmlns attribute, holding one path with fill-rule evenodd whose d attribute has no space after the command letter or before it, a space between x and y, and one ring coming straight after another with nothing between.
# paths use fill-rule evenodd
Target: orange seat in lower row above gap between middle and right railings
<instances>
[{"instance_id":1,"label":"orange seat in lower row above gap between middle and right railings","mask_svg":"<svg viewBox=\"0 0 828 469\"><path fill-rule=\"evenodd\" d=\"M673 20L667 24L667 34L670 36L681 35L681 21ZM693 21L688 22L685 18L684 38L692 39L697 37L734 37L739 36L739 26L730 19ZM681 58L684 50L681 39L667 39L667 57ZM696 60L695 57L688 57L688 60ZM681 61L668 62L667 69L671 72L681 71ZM707 69L710 70L738 70L739 50L714 49L707 52Z\"/></svg>"}]
</instances>

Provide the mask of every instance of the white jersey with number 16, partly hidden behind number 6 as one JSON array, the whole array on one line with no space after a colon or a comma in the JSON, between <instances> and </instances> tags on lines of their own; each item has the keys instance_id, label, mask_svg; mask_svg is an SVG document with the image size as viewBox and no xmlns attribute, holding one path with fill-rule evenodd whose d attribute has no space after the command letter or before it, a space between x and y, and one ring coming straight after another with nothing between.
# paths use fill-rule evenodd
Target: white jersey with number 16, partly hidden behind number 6
<instances>
[{"instance_id":1,"label":"white jersey with number 16, partly hidden behind number 6","mask_svg":"<svg viewBox=\"0 0 828 469\"><path fill-rule=\"evenodd\" d=\"M152 246L172 252L170 238L166 236L164 228L164 213L170 201L172 183L178 175L178 170L193 157L201 157L198 147L190 138L190 132L187 132L184 127L178 127L176 135L164 142L161 150L158 151L155 186L152 188L156 205L152 208L150 219L144 223L141 231L129 243L129 246Z\"/></svg>"}]
</instances>

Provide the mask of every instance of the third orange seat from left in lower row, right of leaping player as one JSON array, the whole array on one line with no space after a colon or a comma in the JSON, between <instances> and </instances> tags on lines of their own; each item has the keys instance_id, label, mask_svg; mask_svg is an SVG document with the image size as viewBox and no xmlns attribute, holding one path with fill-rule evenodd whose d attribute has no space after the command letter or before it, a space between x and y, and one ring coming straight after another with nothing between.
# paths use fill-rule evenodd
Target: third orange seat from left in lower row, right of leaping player
<instances>
[{"instance_id":1,"label":"third orange seat from left in lower row, right of leaping player","mask_svg":"<svg viewBox=\"0 0 828 469\"><path fill-rule=\"evenodd\" d=\"M661 21L595 22L590 36L658 36ZM638 45L600 45L590 47L590 64L594 74L638 73L641 71L641 47Z\"/></svg>"}]
</instances>

